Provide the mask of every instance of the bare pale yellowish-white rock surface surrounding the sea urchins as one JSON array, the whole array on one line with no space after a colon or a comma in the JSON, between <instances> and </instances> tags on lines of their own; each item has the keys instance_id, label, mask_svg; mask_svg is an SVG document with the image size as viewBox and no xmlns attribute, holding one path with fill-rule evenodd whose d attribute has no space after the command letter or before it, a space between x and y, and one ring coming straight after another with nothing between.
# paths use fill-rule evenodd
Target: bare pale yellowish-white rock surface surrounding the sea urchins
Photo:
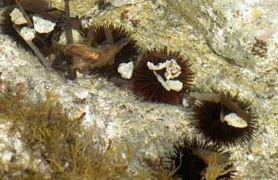
<instances>
[{"instance_id":1,"label":"bare pale yellowish-white rock surface surrounding the sea urchins","mask_svg":"<svg viewBox=\"0 0 278 180\"><path fill-rule=\"evenodd\" d=\"M70 8L73 15L88 17L85 24L114 22L123 25L133 32L142 47L167 45L170 50L181 51L181 55L193 63L194 88L240 91L240 96L253 100L259 116L259 131L247 145L229 150L236 159L238 177L277 179L277 1L132 3L134 1L111 1L112 6L101 9L95 1L74 0L70 1ZM60 0L53 4L63 8ZM123 16L127 11L128 16ZM266 56L260 55L264 52L263 43L255 37L267 44ZM257 47L252 53L253 46ZM60 102L71 116L90 112L84 125L91 127L97 123L96 131L104 144L108 139L113 143L130 142L137 150L129 164L130 179L149 165L156 168L159 158L173 151L172 143L179 141L182 134L193 135L193 129L188 126L190 108L141 102L135 100L130 91L87 75L74 81L65 80L44 69L37 57L26 53L6 35L0 36L0 52L4 82L14 86L26 84L34 101L44 100L47 89L56 89ZM78 98L85 100L77 103ZM1 137L7 133L5 122L0 121ZM1 147L7 145L6 141L1 141ZM0 152L5 161L9 156L9 152Z\"/></svg>"}]
</instances>

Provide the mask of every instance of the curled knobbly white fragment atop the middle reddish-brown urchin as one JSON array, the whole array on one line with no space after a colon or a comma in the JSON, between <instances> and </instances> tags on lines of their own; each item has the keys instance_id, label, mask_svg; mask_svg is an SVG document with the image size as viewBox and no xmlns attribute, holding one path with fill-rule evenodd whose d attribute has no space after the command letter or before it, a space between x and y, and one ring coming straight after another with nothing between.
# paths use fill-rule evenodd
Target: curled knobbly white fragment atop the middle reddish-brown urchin
<instances>
[{"instance_id":1,"label":"curled knobbly white fragment atop the middle reddish-brown urchin","mask_svg":"<svg viewBox=\"0 0 278 180\"><path fill-rule=\"evenodd\" d=\"M170 61L167 60L163 63L158 63L157 65L154 65L152 62L147 62L147 66L149 70L152 71L166 69L165 78L167 80L177 78L181 74L181 66L179 66L179 64L177 64L177 61L174 59Z\"/></svg>"}]
</instances>

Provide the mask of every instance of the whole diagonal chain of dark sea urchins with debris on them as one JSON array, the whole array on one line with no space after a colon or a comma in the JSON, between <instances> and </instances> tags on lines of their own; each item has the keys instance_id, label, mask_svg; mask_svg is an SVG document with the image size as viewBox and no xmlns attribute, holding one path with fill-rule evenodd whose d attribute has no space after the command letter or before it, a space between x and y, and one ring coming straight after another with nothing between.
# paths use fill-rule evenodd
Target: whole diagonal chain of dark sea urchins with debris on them
<instances>
[{"instance_id":1,"label":"whole diagonal chain of dark sea urchins with debris on them","mask_svg":"<svg viewBox=\"0 0 278 180\"><path fill-rule=\"evenodd\" d=\"M45 2L49 4L48 0ZM17 3L17 6L20 4ZM30 8L24 4L22 7L27 10ZM26 44L27 41L22 39L18 31L26 24L15 26L10 18L10 12L15 8L17 7L10 6L3 12L0 33L10 35L25 47L30 46L30 43L38 46L42 55L36 48L35 53L39 54L40 59L49 60L52 67L67 73L71 80L76 78L76 71L80 71L102 79L125 79L140 100L177 105L186 93L197 99L193 107L192 125L206 141L202 142L196 137L192 140L184 138L183 145L174 145L174 154L170 155L170 159L177 168L175 174L183 179L227 179L234 176L233 165L228 160L227 153L223 153L219 147L236 146L250 141L256 130L252 102L229 91L190 93L194 72L189 60L180 51L169 51L166 46L140 54L136 40L123 26L76 26L76 30L83 35L84 42L76 44L72 39L64 44L65 48L63 44L58 44L58 40L65 29L65 14L69 13L59 11L55 17L54 30L44 35L36 33L35 38ZM34 8L30 10L27 11L29 17L34 15ZM53 17L54 13L51 14L50 11L50 8L40 10L42 16ZM77 20L77 24L80 24L79 19ZM126 71L129 69L129 72L123 75L120 71L122 67Z\"/></svg>"}]
</instances>

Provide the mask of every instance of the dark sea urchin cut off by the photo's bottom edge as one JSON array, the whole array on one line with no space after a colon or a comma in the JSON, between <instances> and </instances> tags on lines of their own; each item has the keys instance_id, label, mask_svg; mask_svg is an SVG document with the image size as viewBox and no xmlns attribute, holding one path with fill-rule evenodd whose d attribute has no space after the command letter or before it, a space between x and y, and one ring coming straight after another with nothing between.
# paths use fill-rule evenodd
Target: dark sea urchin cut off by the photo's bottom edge
<instances>
[{"instance_id":1,"label":"dark sea urchin cut off by the photo's bottom edge","mask_svg":"<svg viewBox=\"0 0 278 180\"><path fill-rule=\"evenodd\" d=\"M208 141L201 141L199 137L183 138L183 144L174 144L174 153L170 160L176 168L174 176L188 180L199 180L213 174L215 179L229 179L234 176L234 168L229 161L229 152L222 152ZM221 166L218 172L214 167Z\"/></svg>"}]
</instances>

